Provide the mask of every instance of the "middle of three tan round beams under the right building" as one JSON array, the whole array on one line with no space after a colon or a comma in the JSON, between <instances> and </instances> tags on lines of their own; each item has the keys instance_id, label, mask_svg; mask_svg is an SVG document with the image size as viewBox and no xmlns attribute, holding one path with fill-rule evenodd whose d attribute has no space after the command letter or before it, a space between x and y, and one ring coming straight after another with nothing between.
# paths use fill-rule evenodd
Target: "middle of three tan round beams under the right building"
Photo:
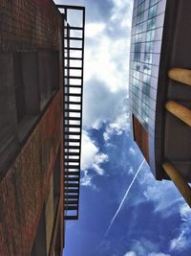
<instances>
[{"instance_id":1,"label":"middle of three tan round beams under the right building","mask_svg":"<svg viewBox=\"0 0 191 256\"><path fill-rule=\"evenodd\" d=\"M168 101L165 105L166 109L178 117L181 121L191 127L191 110L174 101Z\"/></svg>"}]
</instances>

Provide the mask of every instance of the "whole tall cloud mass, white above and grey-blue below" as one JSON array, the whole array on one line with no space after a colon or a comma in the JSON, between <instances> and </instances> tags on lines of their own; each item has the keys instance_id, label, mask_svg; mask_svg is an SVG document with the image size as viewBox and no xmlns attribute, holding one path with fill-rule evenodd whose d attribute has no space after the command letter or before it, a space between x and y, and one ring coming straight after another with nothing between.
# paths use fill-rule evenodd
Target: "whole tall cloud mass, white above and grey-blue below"
<instances>
[{"instance_id":1,"label":"whole tall cloud mass, white above and grey-blue below","mask_svg":"<svg viewBox=\"0 0 191 256\"><path fill-rule=\"evenodd\" d=\"M121 114L121 103L128 96L131 2L111 1L114 7L107 24L101 21L86 25L83 125L100 128L110 123L105 140L110 133L127 127L127 113ZM122 24L122 30L118 24Z\"/></svg>"}]
</instances>

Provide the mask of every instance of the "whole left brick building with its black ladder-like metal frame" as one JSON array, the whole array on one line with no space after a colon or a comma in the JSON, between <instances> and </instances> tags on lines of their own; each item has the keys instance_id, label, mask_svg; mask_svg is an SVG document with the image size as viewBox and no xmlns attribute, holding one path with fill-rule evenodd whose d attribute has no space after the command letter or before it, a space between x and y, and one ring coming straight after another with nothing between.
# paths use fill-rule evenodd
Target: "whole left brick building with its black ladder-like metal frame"
<instances>
[{"instance_id":1,"label":"whole left brick building with its black ladder-like metal frame","mask_svg":"<svg viewBox=\"0 0 191 256\"><path fill-rule=\"evenodd\" d=\"M59 8L0 1L2 256L61 255L64 219L78 218L84 9L76 28L66 21L75 8ZM80 47L70 46L72 29Z\"/></svg>"}]
</instances>

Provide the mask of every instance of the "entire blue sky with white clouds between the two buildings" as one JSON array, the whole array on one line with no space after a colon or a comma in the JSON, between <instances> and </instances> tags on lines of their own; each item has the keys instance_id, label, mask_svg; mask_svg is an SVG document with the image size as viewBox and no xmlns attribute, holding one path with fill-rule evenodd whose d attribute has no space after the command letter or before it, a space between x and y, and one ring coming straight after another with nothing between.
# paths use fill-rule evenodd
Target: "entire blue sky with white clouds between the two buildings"
<instances>
[{"instance_id":1,"label":"entire blue sky with white clouds between the two buildings","mask_svg":"<svg viewBox=\"0 0 191 256\"><path fill-rule=\"evenodd\" d=\"M64 255L190 256L190 209L146 163L117 213L143 160L128 111L133 1L56 2L87 8L79 220L67 221Z\"/></svg>"}]
</instances>

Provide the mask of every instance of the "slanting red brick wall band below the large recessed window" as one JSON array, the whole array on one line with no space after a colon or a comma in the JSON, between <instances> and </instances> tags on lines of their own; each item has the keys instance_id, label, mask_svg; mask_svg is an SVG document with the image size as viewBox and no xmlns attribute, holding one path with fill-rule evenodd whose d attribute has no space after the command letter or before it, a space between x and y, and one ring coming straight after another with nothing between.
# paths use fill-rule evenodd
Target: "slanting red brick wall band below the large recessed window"
<instances>
[{"instance_id":1,"label":"slanting red brick wall band below the large recessed window","mask_svg":"<svg viewBox=\"0 0 191 256\"><path fill-rule=\"evenodd\" d=\"M29 255L60 146L61 94L0 183L1 255Z\"/></svg>"}]
</instances>

